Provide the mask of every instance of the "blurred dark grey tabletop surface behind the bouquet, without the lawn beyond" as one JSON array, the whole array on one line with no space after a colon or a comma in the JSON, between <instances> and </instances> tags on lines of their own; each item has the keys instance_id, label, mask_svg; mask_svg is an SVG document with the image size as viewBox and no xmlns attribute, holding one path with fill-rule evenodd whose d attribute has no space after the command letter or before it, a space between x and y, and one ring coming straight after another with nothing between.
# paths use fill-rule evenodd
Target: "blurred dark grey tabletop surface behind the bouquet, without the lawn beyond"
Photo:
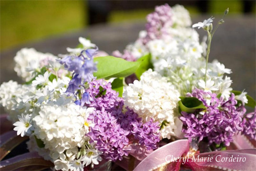
<instances>
[{"instance_id":1,"label":"blurred dark grey tabletop surface behind the bouquet, without the lawn beyond","mask_svg":"<svg viewBox=\"0 0 256 171\"><path fill-rule=\"evenodd\" d=\"M193 23L211 17L192 16ZM220 16L214 16L217 18ZM1 53L1 83L10 79L21 83L13 70L13 57L22 47L34 47L40 52L50 52L54 55L66 53L66 47L75 47L78 37L84 36L97 44L100 50L111 53L122 51L128 44L136 40L138 32L144 29L145 21L117 23L114 25L95 25L84 30L58 35L46 40L31 42ZM198 30L201 39L205 31ZM232 69L229 75L233 80L232 88L242 91L245 89L255 99L255 16L227 16L224 25L216 31L210 54Z\"/></svg>"}]
</instances>

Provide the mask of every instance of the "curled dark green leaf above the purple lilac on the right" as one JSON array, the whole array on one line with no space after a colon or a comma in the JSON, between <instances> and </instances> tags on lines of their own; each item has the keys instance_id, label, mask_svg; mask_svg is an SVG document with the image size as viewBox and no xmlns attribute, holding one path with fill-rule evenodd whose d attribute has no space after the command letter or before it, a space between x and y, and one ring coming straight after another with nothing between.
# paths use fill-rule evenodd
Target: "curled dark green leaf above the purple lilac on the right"
<instances>
[{"instance_id":1,"label":"curled dark green leaf above the purple lilac on the right","mask_svg":"<svg viewBox=\"0 0 256 171\"><path fill-rule=\"evenodd\" d=\"M202 101L195 97L180 97L179 109L187 113L193 113L197 108L206 108Z\"/></svg>"}]
</instances>

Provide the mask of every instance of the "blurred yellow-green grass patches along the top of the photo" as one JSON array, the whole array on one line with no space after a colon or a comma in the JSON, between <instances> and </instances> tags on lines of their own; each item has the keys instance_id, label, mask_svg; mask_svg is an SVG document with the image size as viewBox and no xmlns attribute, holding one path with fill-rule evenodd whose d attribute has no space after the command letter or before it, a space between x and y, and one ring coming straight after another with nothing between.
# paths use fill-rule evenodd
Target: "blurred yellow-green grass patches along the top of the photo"
<instances>
[{"instance_id":1,"label":"blurred yellow-green grass patches along the top of the photo","mask_svg":"<svg viewBox=\"0 0 256 171\"><path fill-rule=\"evenodd\" d=\"M1 46L13 46L88 27L86 1L0 1ZM211 1L209 13L220 14L229 7L230 14L242 14L241 1ZM196 7L186 7L198 15ZM112 11L110 23L145 19L151 10ZM254 7L255 13L255 7Z\"/></svg>"}]
</instances>

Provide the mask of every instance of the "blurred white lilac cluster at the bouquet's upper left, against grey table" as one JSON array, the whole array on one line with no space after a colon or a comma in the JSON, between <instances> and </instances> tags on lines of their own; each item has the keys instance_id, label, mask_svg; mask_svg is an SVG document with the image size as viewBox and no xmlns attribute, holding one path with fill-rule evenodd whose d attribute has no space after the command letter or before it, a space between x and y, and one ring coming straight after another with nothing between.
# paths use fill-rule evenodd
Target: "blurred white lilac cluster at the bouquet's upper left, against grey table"
<instances>
[{"instance_id":1,"label":"blurred white lilac cluster at the bouquet's upper left, against grey table","mask_svg":"<svg viewBox=\"0 0 256 171\"><path fill-rule=\"evenodd\" d=\"M17 75L25 81L29 81L35 71L40 71L40 68L48 65L48 61L54 61L56 56L50 53L37 52L34 48L22 48L14 57L14 70Z\"/></svg>"}]
</instances>

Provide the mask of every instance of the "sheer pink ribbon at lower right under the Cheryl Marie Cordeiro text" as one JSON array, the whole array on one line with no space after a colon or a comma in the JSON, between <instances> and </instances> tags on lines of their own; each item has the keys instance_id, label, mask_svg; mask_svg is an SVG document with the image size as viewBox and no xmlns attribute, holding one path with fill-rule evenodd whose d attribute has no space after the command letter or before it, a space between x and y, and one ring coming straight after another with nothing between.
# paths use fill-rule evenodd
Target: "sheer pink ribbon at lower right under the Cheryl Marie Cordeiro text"
<instances>
[{"instance_id":1,"label":"sheer pink ribbon at lower right under the Cheryl Marie Cordeiro text","mask_svg":"<svg viewBox=\"0 0 256 171\"><path fill-rule=\"evenodd\" d=\"M137 165L134 171L176 171L180 167L189 167L192 170L255 170L256 149L216 151L190 155L188 157L186 155L189 150L188 140L177 140L168 143L149 154ZM197 159L197 156L199 159ZM187 157L187 159L185 162L183 158L177 161L177 157L184 157L184 159ZM202 161L202 157L206 159ZM174 161L174 158L176 158L176 161ZM211 158L213 159L211 160Z\"/></svg>"}]
</instances>

